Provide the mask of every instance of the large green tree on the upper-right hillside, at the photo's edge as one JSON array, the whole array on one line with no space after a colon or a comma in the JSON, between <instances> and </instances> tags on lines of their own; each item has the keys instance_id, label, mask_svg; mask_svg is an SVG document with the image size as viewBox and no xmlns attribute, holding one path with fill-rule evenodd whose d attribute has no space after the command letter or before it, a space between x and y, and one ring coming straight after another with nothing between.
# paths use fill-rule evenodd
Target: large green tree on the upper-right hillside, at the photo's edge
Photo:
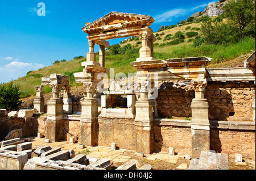
<instances>
[{"instance_id":1,"label":"large green tree on the upper-right hillside, at the photo's edge","mask_svg":"<svg viewBox=\"0 0 256 181\"><path fill-rule=\"evenodd\" d=\"M230 1L224 6L226 18L238 28L240 39L246 34L246 28L254 24L255 27L255 1ZM251 28L250 28L251 29Z\"/></svg>"}]
</instances>

